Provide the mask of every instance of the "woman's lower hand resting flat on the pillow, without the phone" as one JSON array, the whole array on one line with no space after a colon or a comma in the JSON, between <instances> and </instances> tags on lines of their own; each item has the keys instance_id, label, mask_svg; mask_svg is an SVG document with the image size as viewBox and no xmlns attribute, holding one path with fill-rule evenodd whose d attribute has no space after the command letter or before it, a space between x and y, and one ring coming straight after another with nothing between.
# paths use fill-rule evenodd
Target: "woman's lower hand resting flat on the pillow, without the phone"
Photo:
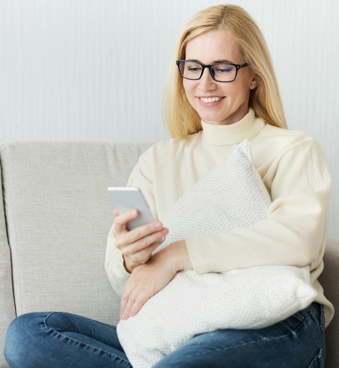
<instances>
[{"instance_id":1,"label":"woman's lower hand resting flat on the pillow, without the phone","mask_svg":"<svg viewBox=\"0 0 339 368\"><path fill-rule=\"evenodd\" d=\"M170 258L170 245L156 252L146 263L133 269L122 291L120 318L128 319L129 316L135 316L145 302L177 274L177 269Z\"/></svg>"}]
</instances>

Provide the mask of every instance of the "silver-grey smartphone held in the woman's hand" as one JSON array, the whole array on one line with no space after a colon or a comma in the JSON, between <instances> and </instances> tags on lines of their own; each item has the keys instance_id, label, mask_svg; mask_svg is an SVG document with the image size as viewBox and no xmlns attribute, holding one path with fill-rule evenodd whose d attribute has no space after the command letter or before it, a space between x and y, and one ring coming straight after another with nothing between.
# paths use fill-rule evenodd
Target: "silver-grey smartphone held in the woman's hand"
<instances>
[{"instance_id":1,"label":"silver-grey smartphone held in the woman's hand","mask_svg":"<svg viewBox=\"0 0 339 368\"><path fill-rule=\"evenodd\" d=\"M154 222L155 218L152 216L149 206L141 193L140 188L137 187L108 187L107 193L118 213L128 211L130 209L137 209L138 217L131 219L126 224L128 231L150 222ZM161 242L165 237L157 240Z\"/></svg>"}]
</instances>

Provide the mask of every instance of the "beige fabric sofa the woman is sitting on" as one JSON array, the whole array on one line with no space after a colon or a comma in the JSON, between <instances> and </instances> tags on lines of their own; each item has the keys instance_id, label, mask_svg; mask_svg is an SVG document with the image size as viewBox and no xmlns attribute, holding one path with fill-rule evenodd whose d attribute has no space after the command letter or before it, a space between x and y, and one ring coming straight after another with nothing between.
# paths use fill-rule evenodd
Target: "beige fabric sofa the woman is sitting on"
<instances>
[{"instance_id":1,"label":"beige fabric sofa the woman is sitting on","mask_svg":"<svg viewBox=\"0 0 339 368\"><path fill-rule=\"evenodd\" d=\"M22 141L0 146L0 367L16 316L65 311L116 325L120 299L104 260L114 220L107 187L125 186L148 143ZM339 241L319 280L339 311ZM326 329L326 367L339 367L339 314Z\"/></svg>"}]
</instances>

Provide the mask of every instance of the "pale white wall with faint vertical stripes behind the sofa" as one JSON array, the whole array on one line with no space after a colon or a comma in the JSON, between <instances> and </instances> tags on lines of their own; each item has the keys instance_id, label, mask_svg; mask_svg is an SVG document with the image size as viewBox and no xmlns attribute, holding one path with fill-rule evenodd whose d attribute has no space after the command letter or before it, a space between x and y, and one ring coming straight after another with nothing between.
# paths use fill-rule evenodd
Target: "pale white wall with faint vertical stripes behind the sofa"
<instances>
[{"instance_id":1,"label":"pale white wall with faint vertical stripes behind the sofa","mask_svg":"<svg viewBox=\"0 0 339 368\"><path fill-rule=\"evenodd\" d=\"M170 54L185 22L219 3L0 0L0 144L169 138L161 100ZM289 129L315 137L327 155L328 234L339 237L338 2L232 3L262 29ZM125 78L136 63L143 73Z\"/></svg>"}]
</instances>

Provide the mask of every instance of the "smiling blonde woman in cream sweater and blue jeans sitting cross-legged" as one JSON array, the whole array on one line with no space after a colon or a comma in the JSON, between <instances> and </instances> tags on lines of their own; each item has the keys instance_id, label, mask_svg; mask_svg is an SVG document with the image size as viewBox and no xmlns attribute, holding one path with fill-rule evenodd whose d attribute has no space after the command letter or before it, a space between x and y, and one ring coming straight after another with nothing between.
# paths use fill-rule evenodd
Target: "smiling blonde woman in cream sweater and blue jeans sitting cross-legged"
<instances>
[{"instance_id":1,"label":"smiling blonde woman in cream sweater and blue jeans sitting cross-legged","mask_svg":"<svg viewBox=\"0 0 339 368\"><path fill-rule=\"evenodd\" d=\"M263 329L196 335L154 367L323 367L325 327L334 309L317 277L331 173L318 142L288 130L271 57L250 15L235 5L198 12L180 38L166 91L163 112L172 139L149 147L127 183L141 188L155 219L165 218L177 199L245 138L272 204L267 221L187 238L153 256L167 229L161 233L160 222L156 230L156 221L127 231L133 215L115 211L105 269L121 296L121 317L134 316L183 269L200 275L308 264L318 290L309 307ZM131 367L115 326L62 312L15 318L4 354L11 367Z\"/></svg>"}]
</instances>

